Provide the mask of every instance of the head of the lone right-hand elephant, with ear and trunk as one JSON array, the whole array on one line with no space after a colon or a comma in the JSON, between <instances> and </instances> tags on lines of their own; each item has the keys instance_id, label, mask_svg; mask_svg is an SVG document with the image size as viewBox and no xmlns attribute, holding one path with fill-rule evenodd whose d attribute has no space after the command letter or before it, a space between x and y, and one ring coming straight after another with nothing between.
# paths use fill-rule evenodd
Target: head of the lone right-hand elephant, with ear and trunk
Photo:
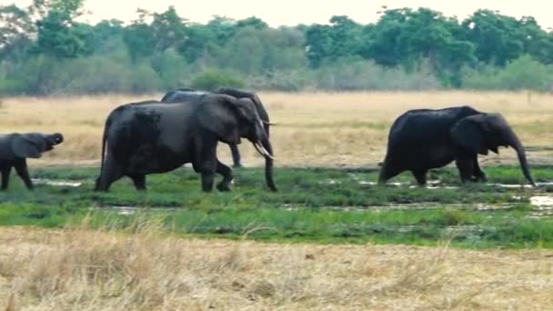
<instances>
[{"instance_id":1,"label":"head of the lone right-hand elephant, with ear and trunk","mask_svg":"<svg viewBox=\"0 0 553 311\"><path fill-rule=\"evenodd\" d=\"M498 146L511 146L517 151L522 173L532 186L536 186L530 174L524 146L517 134L500 114L479 114L465 117L451 128L454 144L473 154L488 155L488 150L498 154Z\"/></svg>"}]
</instances>

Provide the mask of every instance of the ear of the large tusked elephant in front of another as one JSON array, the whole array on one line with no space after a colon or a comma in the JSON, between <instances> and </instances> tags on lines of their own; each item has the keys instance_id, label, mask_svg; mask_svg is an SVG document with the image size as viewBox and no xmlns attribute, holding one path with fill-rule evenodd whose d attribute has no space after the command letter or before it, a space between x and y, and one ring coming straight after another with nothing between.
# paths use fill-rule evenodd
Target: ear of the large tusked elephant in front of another
<instances>
[{"instance_id":1,"label":"ear of the large tusked elephant in front of another","mask_svg":"<svg viewBox=\"0 0 553 311\"><path fill-rule=\"evenodd\" d=\"M198 106L200 126L226 143L240 144L240 131L236 117L236 99L228 95L207 95Z\"/></svg>"}]
</instances>

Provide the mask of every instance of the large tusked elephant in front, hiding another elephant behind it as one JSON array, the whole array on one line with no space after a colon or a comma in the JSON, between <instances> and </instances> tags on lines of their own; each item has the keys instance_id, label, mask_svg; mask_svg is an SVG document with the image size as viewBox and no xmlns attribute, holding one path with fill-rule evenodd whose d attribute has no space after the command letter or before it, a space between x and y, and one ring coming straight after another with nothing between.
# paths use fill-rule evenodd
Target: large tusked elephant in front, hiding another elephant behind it
<instances>
[{"instance_id":1,"label":"large tusked elephant in front, hiding another elephant behind it","mask_svg":"<svg viewBox=\"0 0 553 311\"><path fill-rule=\"evenodd\" d=\"M96 191L108 191L123 176L136 190L146 190L146 175L192 163L201 174L202 190L213 190L215 173L223 176L219 191L230 190L232 169L216 157L219 141L238 145L246 138L266 157L266 185L273 191L273 148L256 106L248 98L206 94L182 103L145 101L120 105L106 119L102 165Z\"/></svg>"}]
</instances>

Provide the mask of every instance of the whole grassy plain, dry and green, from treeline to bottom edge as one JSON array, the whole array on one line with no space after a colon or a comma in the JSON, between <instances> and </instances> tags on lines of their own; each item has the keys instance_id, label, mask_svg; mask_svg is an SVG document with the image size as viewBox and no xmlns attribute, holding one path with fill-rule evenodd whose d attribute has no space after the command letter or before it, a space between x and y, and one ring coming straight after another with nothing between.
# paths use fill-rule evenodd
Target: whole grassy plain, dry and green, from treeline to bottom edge
<instances>
[{"instance_id":1,"label":"whole grassy plain, dry and green, from treeline to bottom edge","mask_svg":"<svg viewBox=\"0 0 553 311\"><path fill-rule=\"evenodd\" d=\"M232 192L204 194L191 167L92 191L106 115L154 95L13 97L0 133L61 132L0 193L0 307L7 310L551 310L553 95L527 92L259 94L275 125L278 193L240 145ZM387 132L411 108L472 105L506 116L512 149L481 156L488 182L454 166L377 186ZM231 163L226 145L219 157ZM408 156L408 155L406 155Z\"/></svg>"}]
</instances>

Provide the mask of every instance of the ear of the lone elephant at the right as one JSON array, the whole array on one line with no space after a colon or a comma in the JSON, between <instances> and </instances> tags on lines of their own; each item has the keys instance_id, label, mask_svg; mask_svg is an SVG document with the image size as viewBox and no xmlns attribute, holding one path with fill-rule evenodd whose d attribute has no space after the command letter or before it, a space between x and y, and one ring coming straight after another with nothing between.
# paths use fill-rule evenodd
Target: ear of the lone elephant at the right
<instances>
[{"instance_id":1,"label":"ear of the lone elephant at the right","mask_svg":"<svg viewBox=\"0 0 553 311\"><path fill-rule=\"evenodd\" d=\"M451 128L451 139L453 143L464 150L474 154L488 155L488 149L497 153L498 148L493 146L489 148L485 131L478 117L481 115L471 115L461 119Z\"/></svg>"}]
</instances>

